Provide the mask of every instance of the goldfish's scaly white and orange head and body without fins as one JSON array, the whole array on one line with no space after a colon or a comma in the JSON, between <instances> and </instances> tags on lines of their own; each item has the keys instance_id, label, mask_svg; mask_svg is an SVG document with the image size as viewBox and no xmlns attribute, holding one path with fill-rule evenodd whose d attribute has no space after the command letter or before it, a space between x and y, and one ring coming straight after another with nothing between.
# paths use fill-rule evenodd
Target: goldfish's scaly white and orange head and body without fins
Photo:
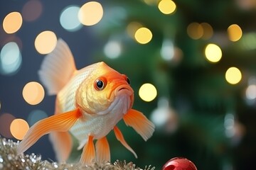
<instances>
[{"instance_id":1,"label":"goldfish's scaly white and orange head and body without fins","mask_svg":"<svg viewBox=\"0 0 256 170\"><path fill-rule=\"evenodd\" d=\"M95 70L97 69L105 69L105 73L102 73L102 71L100 72L100 77L103 77L103 75L106 74L112 75L112 79L111 77L107 79L107 75L105 76L106 81L112 81L109 83L109 86L111 86L111 84L117 84L113 81L119 81L118 84L120 85L116 87L116 90L123 87L126 87L127 89L123 89L123 93L120 92L118 96L112 96L113 99L110 98L111 94L106 94L110 97L104 96L103 98L107 98L107 100L104 99L103 101L100 101L100 98L95 96L95 89L91 89L92 91L90 91L86 88L87 82L95 81L95 77L98 77L98 75L95 76L95 74L97 74ZM88 84L88 86L93 87L92 84ZM70 89L73 90L70 91ZM96 90L96 92L98 91ZM99 114L87 113L88 111L85 110L86 106L89 105L87 101L90 101L90 99L97 100L97 105L101 107L107 104L107 108L98 108L98 113L101 111ZM80 142L80 147L78 147L78 149L81 149L87 142L87 134L93 135L94 139L98 140L105 137L110 130L114 128L114 125L116 125L119 120L122 119L124 113L127 113L129 108L131 108L133 102L133 91L132 88L127 84L127 80L124 76L114 71L114 69L108 67L104 62L99 62L75 72L68 84L59 92L57 100L58 104L56 108L58 108L59 113L73 111L77 107L81 108L83 118L77 120L73 127L70 128L70 132ZM85 107L85 109L82 109L82 107ZM90 108L90 106L88 106L88 108ZM103 113L104 111L105 113Z\"/></svg>"}]
</instances>

